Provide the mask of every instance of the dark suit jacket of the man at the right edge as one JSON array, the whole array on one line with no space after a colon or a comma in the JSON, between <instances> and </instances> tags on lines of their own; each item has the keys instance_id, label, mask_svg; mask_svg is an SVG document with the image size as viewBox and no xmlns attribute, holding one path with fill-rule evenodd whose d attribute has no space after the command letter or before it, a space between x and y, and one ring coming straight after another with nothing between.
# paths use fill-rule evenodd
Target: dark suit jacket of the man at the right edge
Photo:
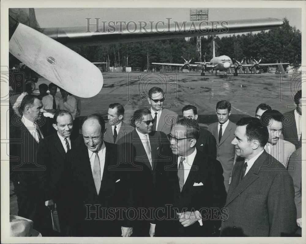
<instances>
[{"instance_id":1,"label":"dark suit jacket of the man at the right edge","mask_svg":"<svg viewBox=\"0 0 306 244\"><path fill-rule=\"evenodd\" d=\"M288 113L284 114L284 116L288 117L287 124L284 125L284 139L289 141L295 145L295 149L302 147L302 135L300 140L297 135L297 123L295 121L294 110L289 111Z\"/></svg>"}]
</instances>

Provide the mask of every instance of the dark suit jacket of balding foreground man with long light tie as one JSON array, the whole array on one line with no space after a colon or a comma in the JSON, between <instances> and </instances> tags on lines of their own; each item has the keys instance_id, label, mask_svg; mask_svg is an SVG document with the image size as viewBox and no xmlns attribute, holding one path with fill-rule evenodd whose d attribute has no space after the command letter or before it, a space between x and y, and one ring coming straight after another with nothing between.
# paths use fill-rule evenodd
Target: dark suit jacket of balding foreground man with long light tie
<instances>
[{"instance_id":1,"label":"dark suit jacket of balding foreground man with long light tie","mask_svg":"<svg viewBox=\"0 0 306 244\"><path fill-rule=\"evenodd\" d=\"M73 236L121 236L120 226L132 227L125 211L132 203L126 171L118 165L117 145L105 142L106 156L99 194L95 189L88 148L72 148L66 157L65 212ZM123 220L120 220L123 219Z\"/></svg>"}]
</instances>

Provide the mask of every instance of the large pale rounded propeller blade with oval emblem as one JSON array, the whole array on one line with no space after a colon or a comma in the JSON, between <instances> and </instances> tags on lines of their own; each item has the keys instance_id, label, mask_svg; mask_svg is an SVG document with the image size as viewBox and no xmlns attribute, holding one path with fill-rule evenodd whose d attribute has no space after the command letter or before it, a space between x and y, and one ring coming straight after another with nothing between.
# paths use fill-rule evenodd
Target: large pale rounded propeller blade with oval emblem
<instances>
[{"instance_id":1,"label":"large pale rounded propeller blade with oval emblem","mask_svg":"<svg viewBox=\"0 0 306 244\"><path fill-rule=\"evenodd\" d=\"M33 28L18 23L9 52L30 69L79 97L93 97L103 86L101 71L87 59Z\"/></svg>"}]
</instances>

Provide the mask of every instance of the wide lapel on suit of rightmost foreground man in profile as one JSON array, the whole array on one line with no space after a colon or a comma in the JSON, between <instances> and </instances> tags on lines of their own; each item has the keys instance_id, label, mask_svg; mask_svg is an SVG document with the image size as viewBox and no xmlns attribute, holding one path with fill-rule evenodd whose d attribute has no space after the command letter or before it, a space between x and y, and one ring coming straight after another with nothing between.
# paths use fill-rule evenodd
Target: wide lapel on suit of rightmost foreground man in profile
<instances>
[{"instance_id":1,"label":"wide lapel on suit of rightmost foreground man in profile","mask_svg":"<svg viewBox=\"0 0 306 244\"><path fill-rule=\"evenodd\" d=\"M233 201L236 197L238 197L241 192L243 192L249 185L251 185L259 177L258 173L261 167L263 166L263 163L267 159L267 157L268 157L267 152L263 151L263 153L254 162L252 168L248 171L248 173L244 176L244 178L239 182L237 187L233 189L224 207L226 207L231 201ZM237 175L237 177L241 177L241 171L242 171L243 164L241 164L240 167L241 167L240 174ZM240 178L238 180L240 180Z\"/></svg>"}]
</instances>

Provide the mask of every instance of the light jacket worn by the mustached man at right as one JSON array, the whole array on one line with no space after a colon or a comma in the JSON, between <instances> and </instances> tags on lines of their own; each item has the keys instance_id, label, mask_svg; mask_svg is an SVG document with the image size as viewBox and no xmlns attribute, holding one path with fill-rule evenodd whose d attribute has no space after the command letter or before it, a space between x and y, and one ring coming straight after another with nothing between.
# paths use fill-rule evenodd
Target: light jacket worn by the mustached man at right
<instances>
[{"instance_id":1,"label":"light jacket worn by the mustached man at right","mask_svg":"<svg viewBox=\"0 0 306 244\"><path fill-rule=\"evenodd\" d=\"M273 163L273 159L275 158L277 161L282 163L285 168L287 168L288 160L291 154L295 151L295 146L283 139L278 139L278 142L275 145L271 145L271 163Z\"/></svg>"}]
</instances>

